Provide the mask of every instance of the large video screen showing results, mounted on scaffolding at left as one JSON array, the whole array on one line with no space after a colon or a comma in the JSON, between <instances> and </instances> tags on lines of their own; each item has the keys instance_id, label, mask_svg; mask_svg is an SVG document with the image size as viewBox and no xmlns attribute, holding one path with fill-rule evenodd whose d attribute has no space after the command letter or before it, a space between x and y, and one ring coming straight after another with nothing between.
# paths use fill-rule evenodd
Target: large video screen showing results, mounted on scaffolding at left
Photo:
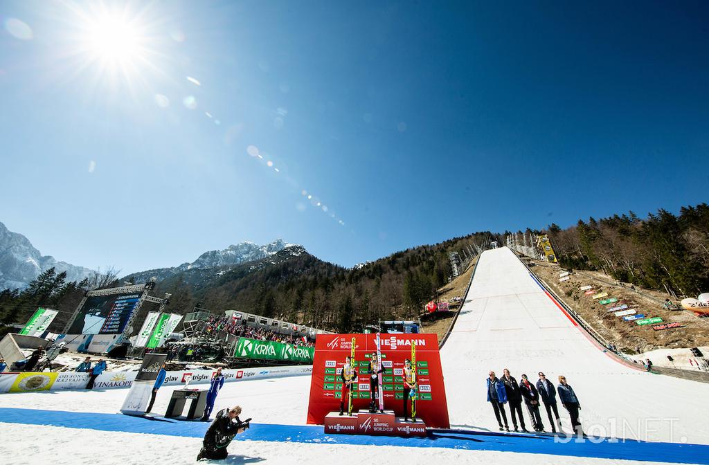
<instances>
[{"instance_id":1,"label":"large video screen showing results, mounted on scaffolding at left","mask_svg":"<svg viewBox=\"0 0 709 465\"><path fill-rule=\"evenodd\" d=\"M121 334L140 301L140 293L89 297L67 334Z\"/></svg>"}]
</instances>

